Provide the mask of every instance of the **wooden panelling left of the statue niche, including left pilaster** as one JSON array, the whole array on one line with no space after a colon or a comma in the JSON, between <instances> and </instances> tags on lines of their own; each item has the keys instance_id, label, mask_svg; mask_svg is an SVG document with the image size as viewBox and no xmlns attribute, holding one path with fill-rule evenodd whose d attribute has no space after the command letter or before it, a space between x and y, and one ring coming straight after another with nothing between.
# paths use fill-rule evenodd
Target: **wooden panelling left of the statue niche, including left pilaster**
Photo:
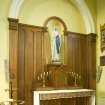
<instances>
[{"instance_id":1,"label":"wooden panelling left of the statue niche, including left pilaster","mask_svg":"<svg viewBox=\"0 0 105 105\"><path fill-rule=\"evenodd\" d=\"M9 19L10 23L13 19ZM10 29L10 74L13 99L24 100L25 105L32 105L32 83L35 76L44 69L44 30L43 27L16 23L16 29ZM10 24L11 25L11 24ZM13 25L13 22L12 22ZM13 68L13 69L11 69Z\"/></svg>"}]
</instances>

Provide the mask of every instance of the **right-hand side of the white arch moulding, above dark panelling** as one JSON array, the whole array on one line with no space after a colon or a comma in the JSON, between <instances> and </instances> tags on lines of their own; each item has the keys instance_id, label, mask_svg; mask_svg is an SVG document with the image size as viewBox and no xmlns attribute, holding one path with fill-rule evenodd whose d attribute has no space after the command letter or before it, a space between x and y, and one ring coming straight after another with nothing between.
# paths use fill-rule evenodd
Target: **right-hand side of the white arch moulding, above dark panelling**
<instances>
[{"instance_id":1,"label":"right-hand side of the white arch moulding, above dark panelling","mask_svg":"<svg viewBox=\"0 0 105 105\"><path fill-rule=\"evenodd\" d=\"M84 0L71 0L71 2L79 9L86 27L86 33L95 33L95 25L91 12Z\"/></svg>"}]
</instances>

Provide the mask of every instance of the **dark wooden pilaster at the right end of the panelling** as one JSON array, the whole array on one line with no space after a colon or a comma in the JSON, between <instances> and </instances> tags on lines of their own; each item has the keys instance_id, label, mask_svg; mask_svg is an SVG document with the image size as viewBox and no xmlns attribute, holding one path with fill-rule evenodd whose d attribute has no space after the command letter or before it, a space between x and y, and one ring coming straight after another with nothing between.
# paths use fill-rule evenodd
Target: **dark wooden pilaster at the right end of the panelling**
<instances>
[{"instance_id":1,"label":"dark wooden pilaster at the right end of the panelling","mask_svg":"<svg viewBox=\"0 0 105 105\"><path fill-rule=\"evenodd\" d=\"M89 88L96 89L96 35L89 34L88 40L88 76Z\"/></svg>"}]
</instances>

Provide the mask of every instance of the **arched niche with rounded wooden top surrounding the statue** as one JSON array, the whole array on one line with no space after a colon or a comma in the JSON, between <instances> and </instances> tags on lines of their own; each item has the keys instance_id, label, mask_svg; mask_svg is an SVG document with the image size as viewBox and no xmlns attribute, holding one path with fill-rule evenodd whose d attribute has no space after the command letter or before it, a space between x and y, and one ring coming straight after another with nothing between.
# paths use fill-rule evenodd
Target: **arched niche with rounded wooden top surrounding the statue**
<instances>
[{"instance_id":1,"label":"arched niche with rounded wooden top surrounding the statue","mask_svg":"<svg viewBox=\"0 0 105 105\"><path fill-rule=\"evenodd\" d=\"M66 24L59 17L49 17L44 27L47 27L45 41L47 63L64 63L64 32L67 31ZM59 36L59 41L56 36ZM57 45L57 42L59 45ZM56 47L55 47L56 46Z\"/></svg>"}]
</instances>

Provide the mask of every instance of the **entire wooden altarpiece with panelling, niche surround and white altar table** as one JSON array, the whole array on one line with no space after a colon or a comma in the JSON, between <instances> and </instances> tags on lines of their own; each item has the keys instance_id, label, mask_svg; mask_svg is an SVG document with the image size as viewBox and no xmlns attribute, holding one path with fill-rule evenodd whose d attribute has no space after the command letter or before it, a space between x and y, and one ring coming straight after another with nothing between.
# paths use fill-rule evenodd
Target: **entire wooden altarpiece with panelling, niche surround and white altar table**
<instances>
[{"instance_id":1,"label":"entire wooden altarpiece with panelling, niche surround and white altar table","mask_svg":"<svg viewBox=\"0 0 105 105\"><path fill-rule=\"evenodd\" d=\"M50 19L44 26L8 19L10 98L25 105L95 105L96 35L69 31L63 20ZM63 24L59 57L51 56L51 21Z\"/></svg>"}]
</instances>

